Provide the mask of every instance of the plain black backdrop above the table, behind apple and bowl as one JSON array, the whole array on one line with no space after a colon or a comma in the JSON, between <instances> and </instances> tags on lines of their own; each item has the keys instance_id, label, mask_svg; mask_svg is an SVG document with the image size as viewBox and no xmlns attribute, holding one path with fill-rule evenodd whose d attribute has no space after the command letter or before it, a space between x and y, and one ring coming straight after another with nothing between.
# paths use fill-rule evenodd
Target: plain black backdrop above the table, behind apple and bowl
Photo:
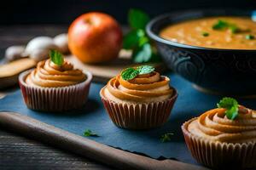
<instances>
[{"instance_id":1,"label":"plain black backdrop above the table, behind apple and bowl","mask_svg":"<svg viewBox=\"0 0 256 170\"><path fill-rule=\"evenodd\" d=\"M256 0L1 0L0 25L65 24L79 14L102 11L126 23L129 8L150 16L190 8L256 8Z\"/></svg>"}]
</instances>

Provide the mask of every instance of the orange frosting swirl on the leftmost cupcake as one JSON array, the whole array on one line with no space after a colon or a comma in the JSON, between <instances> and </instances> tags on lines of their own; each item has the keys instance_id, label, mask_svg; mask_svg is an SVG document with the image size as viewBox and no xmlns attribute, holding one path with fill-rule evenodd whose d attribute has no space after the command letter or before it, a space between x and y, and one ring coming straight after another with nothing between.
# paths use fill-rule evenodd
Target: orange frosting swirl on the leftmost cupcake
<instances>
[{"instance_id":1,"label":"orange frosting swirl on the leftmost cupcake","mask_svg":"<svg viewBox=\"0 0 256 170\"><path fill-rule=\"evenodd\" d=\"M86 76L80 70L73 69L73 65L64 62L63 65L55 65L50 59L38 63L27 77L26 84L44 88L58 88L71 86L84 82Z\"/></svg>"}]
</instances>

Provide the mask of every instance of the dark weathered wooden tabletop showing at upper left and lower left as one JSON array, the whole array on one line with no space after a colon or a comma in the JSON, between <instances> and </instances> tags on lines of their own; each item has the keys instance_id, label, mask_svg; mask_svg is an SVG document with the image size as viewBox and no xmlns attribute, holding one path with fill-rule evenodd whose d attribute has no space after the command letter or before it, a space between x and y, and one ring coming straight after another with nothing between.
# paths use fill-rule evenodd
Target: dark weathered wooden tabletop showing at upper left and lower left
<instances>
[{"instance_id":1,"label":"dark weathered wooden tabletop showing at upper left and lower left","mask_svg":"<svg viewBox=\"0 0 256 170\"><path fill-rule=\"evenodd\" d=\"M53 37L62 32L67 32L67 26L0 26L0 59L4 55L5 48L11 45L26 44L32 37ZM0 90L0 94L12 89L14 88ZM26 139L1 127L0 169L107 170L113 168L38 141Z\"/></svg>"}]
</instances>

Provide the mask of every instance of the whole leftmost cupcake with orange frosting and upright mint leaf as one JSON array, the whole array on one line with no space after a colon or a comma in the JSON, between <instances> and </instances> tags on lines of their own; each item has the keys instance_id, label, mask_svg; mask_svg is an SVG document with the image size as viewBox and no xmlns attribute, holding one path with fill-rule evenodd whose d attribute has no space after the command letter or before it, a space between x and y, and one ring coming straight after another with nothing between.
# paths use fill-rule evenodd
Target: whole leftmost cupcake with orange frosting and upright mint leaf
<instances>
[{"instance_id":1,"label":"whole leftmost cupcake with orange frosting and upright mint leaf","mask_svg":"<svg viewBox=\"0 0 256 170\"><path fill-rule=\"evenodd\" d=\"M92 76L74 69L62 55L52 50L50 59L36 69L20 74L20 89L28 108L37 111L78 109L87 100Z\"/></svg>"}]
</instances>

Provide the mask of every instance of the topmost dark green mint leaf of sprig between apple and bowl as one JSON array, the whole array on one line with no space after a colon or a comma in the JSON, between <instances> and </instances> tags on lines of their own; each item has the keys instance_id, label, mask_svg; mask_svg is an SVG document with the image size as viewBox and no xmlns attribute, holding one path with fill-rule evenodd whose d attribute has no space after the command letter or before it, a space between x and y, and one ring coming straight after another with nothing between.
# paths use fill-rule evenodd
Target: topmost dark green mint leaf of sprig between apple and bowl
<instances>
[{"instance_id":1,"label":"topmost dark green mint leaf of sprig between apple and bowl","mask_svg":"<svg viewBox=\"0 0 256 170\"><path fill-rule=\"evenodd\" d=\"M132 29L145 29L150 20L148 14L142 10L131 8L128 13L129 25Z\"/></svg>"}]
</instances>

